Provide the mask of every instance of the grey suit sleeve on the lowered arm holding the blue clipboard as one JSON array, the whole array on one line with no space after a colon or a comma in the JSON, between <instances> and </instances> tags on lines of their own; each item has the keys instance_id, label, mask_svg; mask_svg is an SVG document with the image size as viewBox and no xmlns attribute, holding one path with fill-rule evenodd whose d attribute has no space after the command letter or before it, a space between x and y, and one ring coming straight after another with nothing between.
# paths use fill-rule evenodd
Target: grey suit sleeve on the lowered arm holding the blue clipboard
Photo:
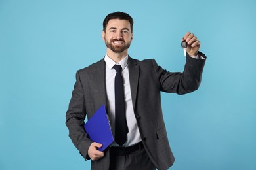
<instances>
[{"instance_id":1,"label":"grey suit sleeve on the lowered arm holding the blue clipboard","mask_svg":"<svg viewBox=\"0 0 256 170\"><path fill-rule=\"evenodd\" d=\"M77 150L86 159L87 151L91 143L93 143L85 129L83 127L85 120L85 98L83 92L83 86L81 85L81 80L79 76L79 71L76 73L76 82L74 85L74 90L72 92L72 98L66 112L66 126L69 129L69 136L72 139Z\"/></svg>"}]
</instances>

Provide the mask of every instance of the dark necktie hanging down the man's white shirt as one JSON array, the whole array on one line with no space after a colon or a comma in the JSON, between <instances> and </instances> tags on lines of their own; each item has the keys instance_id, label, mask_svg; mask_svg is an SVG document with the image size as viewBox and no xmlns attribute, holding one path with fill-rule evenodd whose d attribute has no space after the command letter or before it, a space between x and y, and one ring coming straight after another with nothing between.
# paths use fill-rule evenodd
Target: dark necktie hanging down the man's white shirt
<instances>
[{"instance_id":1,"label":"dark necktie hanging down the man's white shirt","mask_svg":"<svg viewBox=\"0 0 256 170\"><path fill-rule=\"evenodd\" d=\"M121 75L121 65L114 65L116 70L115 77L115 112L116 112L116 126L115 126L115 141L119 146L123 146L127 140L128 127L125 117L125 97L123 92L123 77Z\"/></svg>"}]
</instances>

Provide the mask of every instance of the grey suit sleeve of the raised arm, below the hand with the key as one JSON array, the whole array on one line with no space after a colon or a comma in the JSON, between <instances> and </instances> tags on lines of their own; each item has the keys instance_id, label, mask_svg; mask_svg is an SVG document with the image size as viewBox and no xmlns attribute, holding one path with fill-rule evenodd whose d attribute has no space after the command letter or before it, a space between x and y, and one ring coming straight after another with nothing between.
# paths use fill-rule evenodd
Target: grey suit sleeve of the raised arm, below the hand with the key
<instances>
[{"instance_id":1,"label":"grey suit sleeve of the raised arm, below the hand with the key","mask_svg":"<svg viewBox=\"0 0 256 170\"><path fill-rule=\"evenodd\" d=\"M183 73L169 72L162 69L156 61L153 61L156 76L160 83L160 90L167 93L186 94L197 90L202 79L203 67L206 56L199 52L204 59L195 59L186 56L186 64Z\"/></svg>"}]
</instances>

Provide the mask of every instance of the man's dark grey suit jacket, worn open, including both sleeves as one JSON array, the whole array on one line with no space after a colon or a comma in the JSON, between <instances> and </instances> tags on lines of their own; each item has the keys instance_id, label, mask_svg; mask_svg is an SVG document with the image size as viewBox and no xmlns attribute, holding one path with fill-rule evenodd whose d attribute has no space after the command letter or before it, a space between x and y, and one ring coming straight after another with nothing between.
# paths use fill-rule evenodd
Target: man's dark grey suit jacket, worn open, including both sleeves
<instances>
[{"instance_id":1,"label":"man's dark grey suit jacket, worn open, including both sleeves","mask_svg":"<svg viewBox=\"0 0 256 170\"><path fill-rule=\"evenodd\" d=\"M200 55L205 57L202 53ZM135 117L144 148L158 169L168 169L175 160L163 121L160 92L181 95L197 90L205 59L187 56L183 73L171 73L158 66L154 59L139 61L129 57L129 79ZM92 143L83 128L85 116L90 119L102 104L108 106L105 67L102 59L77 71L72 98L66 112L69 136L85 159L88 158L87 150ZM104 158L91 161L91 169L108 170L109 162L107 149Z\"/></svg>"}]
</instances>

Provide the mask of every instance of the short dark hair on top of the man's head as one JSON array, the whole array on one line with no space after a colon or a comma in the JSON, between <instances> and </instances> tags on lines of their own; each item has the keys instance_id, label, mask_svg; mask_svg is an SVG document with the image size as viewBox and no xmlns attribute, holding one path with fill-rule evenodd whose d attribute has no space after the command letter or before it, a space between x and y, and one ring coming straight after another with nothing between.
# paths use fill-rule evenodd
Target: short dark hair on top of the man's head
<instances>
[{"instance_id":1,"label":"short dark hair on top of the man's head","mask_svg":"<svg viewBox=\"0 0 256 170\"><path fill-rule=\"evenodd\" d=\"M108 25L108 22L112 19L128 20L131 25L131 32L133 32L133 18L131 18L131 16L129 16L129 14L125 12L114 12L114 13L108 14L108 16L106 16L106 18L103 21L104 32L106 32L106 27Z\"/></svg>"}]
</instances>

